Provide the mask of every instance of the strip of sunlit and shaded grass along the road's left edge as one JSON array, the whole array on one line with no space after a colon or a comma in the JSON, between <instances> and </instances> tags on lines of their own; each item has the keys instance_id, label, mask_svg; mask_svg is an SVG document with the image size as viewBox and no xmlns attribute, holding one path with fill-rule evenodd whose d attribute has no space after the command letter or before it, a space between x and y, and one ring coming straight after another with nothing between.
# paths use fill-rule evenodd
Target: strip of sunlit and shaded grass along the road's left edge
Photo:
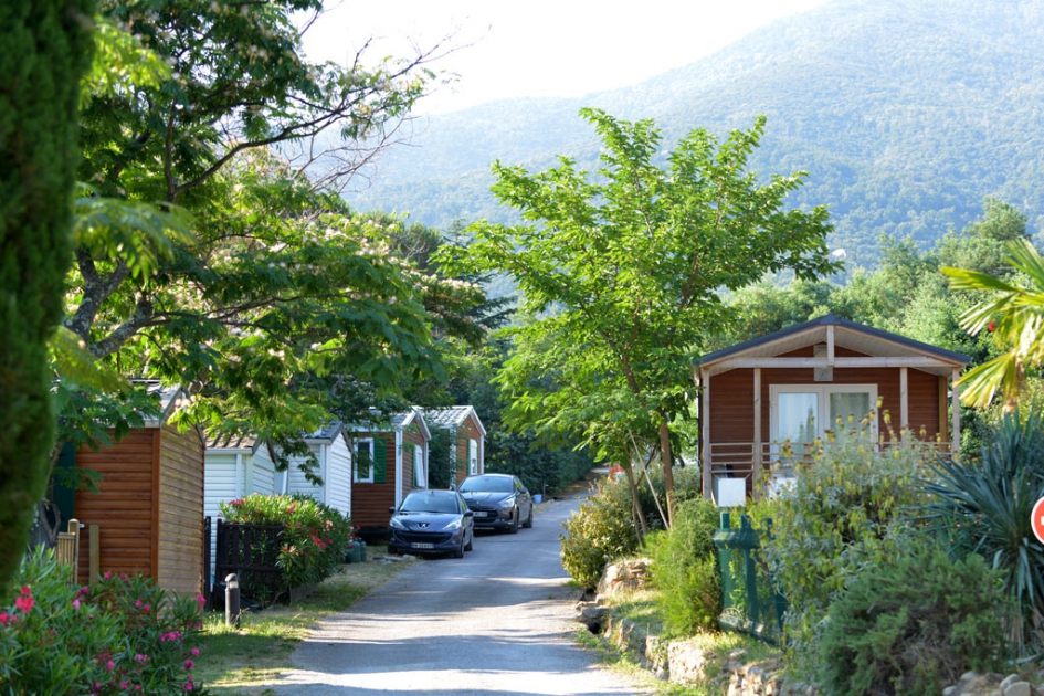
<instances>
[{"instance_id":1,"label":"strip of sunlit and shaded grass along the road's left edge","mask_svg":"<svg viewBox=\"0 0 1044 696\"><path fill-rule=\"evenodd\" d=\"M314 594L291 607L244 613L240 630L224 625L224 614L203 622L203 642L193 674L214 694L265 696L263 684L288 669L291 654L318 621L349 609L370 590L382 586L413 562L381 562L384 547L367 547L366 563L344 566Z\"/></svg>"}]
</instances>

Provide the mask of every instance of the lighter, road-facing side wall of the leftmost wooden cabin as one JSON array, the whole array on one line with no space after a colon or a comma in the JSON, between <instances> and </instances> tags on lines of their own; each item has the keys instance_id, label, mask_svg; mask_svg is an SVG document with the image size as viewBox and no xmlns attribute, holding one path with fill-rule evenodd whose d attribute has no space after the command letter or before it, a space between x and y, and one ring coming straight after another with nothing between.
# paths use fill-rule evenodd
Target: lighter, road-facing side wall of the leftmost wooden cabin
<instances>
[{"instance_id":1,"label":"lighter, road-facing side wall of the leftmost wooden cabin","mask_svg":"<svg viewBox=\"0 0 1044 696\"><path fill-rule=\"evenodd\" d=\"M199 594L203 573L203 439L196 429L159 432L158 572L168 591Z\"/></svg>"}]
</instances>

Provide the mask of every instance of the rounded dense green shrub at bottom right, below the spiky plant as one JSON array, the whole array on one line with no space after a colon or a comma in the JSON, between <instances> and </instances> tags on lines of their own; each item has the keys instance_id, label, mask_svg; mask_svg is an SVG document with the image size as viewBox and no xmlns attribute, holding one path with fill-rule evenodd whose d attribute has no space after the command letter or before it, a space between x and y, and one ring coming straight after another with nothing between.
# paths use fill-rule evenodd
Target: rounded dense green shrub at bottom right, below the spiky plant
<instances>
[{"instance_id":1,"label":"rounded dense green shrub at bottom right, below the spiky plant","mask_svg":"<svg viewBox=\"0 0 1044 696\"><path fill-rule=\"evenodd\" d=\"M819 683L825 696L935 695L967 669L999 667L1000 577L930 540L853 578L827 611Z\"/></svg>"}]
</instances>

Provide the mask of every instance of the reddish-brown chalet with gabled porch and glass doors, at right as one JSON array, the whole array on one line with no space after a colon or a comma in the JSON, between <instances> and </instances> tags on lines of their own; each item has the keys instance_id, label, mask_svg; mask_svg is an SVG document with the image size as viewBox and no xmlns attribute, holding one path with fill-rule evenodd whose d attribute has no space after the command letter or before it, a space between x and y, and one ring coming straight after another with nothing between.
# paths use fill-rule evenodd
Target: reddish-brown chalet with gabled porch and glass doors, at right
<instances>
[{"instance_id":1,"label":"reddish-brown chalet with gabled porch and glass doors, at right","mask_svg":"<svg viewBox=\"0 0 1044 696\"><path fill-rule=\"evenodd\" d=\"M704 356L698 366L703 492L741 505L760 475L842 422L871 419L949 447L960 443L955 382L971 361L896 334L827 315ZM879 408L878 408L879 404ZM785 444L784 444L785 443Z\"/></svg>"}]
</instances>

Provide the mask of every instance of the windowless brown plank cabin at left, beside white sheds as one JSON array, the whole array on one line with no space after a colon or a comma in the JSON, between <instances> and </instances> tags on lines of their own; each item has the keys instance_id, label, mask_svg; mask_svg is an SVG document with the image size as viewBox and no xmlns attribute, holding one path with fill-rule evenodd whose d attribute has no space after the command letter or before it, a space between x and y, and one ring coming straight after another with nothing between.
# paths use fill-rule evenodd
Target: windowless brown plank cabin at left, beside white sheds
<instances>
[{"instance_id":1,"label":"windowless brown plank cabin at left, beside white sheds","mask_svg":"<svg viewBox=\"0 0 1044 696\"><path fill-rule=\"evenodd\" d=\"M97 526L98 572L140 573L171 592L203 588L203 435L167 422L181 391L150 386L161 415L76 466L102 474L98 492L75 493L75 516ZM91 534L80 535L81 579L89 578Z\"/></svg>"}]
</instances>

